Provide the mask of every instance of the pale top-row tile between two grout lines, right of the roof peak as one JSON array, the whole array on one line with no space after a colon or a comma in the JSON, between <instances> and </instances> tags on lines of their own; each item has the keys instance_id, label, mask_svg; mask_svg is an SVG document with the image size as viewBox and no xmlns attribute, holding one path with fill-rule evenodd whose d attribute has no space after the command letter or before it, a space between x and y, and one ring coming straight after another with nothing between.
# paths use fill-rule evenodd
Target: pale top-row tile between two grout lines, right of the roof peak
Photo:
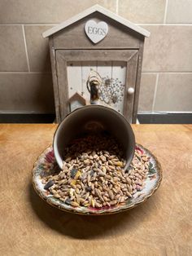
<instances>
[{"instance_id":1,"label":"pale top-row tile between two grout lines, right of the roof peak","mask_svg":"<svg viewBox=\"0 0 192 256\"><path fill-rule=\"evenodd\" d=\"M165 0L119 0L119 15L135 23L164 21Z\"/></svg>"}]
</instances>

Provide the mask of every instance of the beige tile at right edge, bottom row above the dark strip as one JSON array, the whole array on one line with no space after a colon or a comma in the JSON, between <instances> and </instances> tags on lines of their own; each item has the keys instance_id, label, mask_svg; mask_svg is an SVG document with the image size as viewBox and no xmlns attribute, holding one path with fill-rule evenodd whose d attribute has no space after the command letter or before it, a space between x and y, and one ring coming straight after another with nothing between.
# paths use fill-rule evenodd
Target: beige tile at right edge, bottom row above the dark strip
<instances>
[{"instance_id":1,"label":"beige tile at right edge, bottom row above the dark strip","mask_svg":"<svg viewBox=\"0 0 192 256\"><path fill-rule=\"evenodd\" d=\"M192 111L192 73L159 74L155 111Z\"/></svg>"}]
</instances>

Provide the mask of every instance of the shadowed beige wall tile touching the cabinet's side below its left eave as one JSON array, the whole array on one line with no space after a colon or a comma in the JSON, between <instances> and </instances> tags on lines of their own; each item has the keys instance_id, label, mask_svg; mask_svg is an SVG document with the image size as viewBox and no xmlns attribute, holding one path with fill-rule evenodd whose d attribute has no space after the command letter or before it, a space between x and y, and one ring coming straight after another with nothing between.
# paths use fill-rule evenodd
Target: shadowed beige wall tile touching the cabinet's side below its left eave
<instances>
[{"instance_id":1,"label":"shadowed beige wall tile touching the cabinet's side below its left eave","mask_svg":"<svg viewBox=\"0 0 192 256\"><path fill-rule=\"evenodd\" d=\"M31 71L50 71L49 42L48 38L42 38L41 35L50 28L50 26L24 26Z\"/></svg>"}]
</instances>

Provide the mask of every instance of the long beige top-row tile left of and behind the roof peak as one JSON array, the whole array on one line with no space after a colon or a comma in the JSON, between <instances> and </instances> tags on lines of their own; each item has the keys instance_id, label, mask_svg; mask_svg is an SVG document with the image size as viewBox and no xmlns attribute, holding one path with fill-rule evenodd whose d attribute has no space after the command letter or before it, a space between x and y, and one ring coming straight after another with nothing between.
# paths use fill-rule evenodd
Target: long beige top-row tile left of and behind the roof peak
<instances>
[{"instance_id":1,"label":"long beige top-row tile left of and behind the roof peak","mask_svg":"<svg viewBox=\"0 0 192 256\"><path fill-rule=\"evenodd\" d=\"M0 23L60 23L96 3L116 11L116 0L9 0L0 1Z\"/></svg>"}]
</instances>

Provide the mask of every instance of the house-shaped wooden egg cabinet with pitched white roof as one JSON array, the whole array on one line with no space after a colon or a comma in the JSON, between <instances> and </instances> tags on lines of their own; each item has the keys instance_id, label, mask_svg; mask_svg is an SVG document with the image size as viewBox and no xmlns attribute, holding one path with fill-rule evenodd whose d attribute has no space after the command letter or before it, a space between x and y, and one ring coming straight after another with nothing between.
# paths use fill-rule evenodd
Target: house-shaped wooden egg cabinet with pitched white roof
<instances>
[{"instance_id":1,"label":"house-shaped wooden egg cabinet with pitched white roof","mask_svg":"<svg viewBox=\"0 0 192 256\"><path fill-rule=\"evenodd\" d=\"M95 5L43 33L49 38L57 122L89 103L89 74L101 77L99 104L136 122L142 55L150 33Z\"/></svg>"}]
</instances>

